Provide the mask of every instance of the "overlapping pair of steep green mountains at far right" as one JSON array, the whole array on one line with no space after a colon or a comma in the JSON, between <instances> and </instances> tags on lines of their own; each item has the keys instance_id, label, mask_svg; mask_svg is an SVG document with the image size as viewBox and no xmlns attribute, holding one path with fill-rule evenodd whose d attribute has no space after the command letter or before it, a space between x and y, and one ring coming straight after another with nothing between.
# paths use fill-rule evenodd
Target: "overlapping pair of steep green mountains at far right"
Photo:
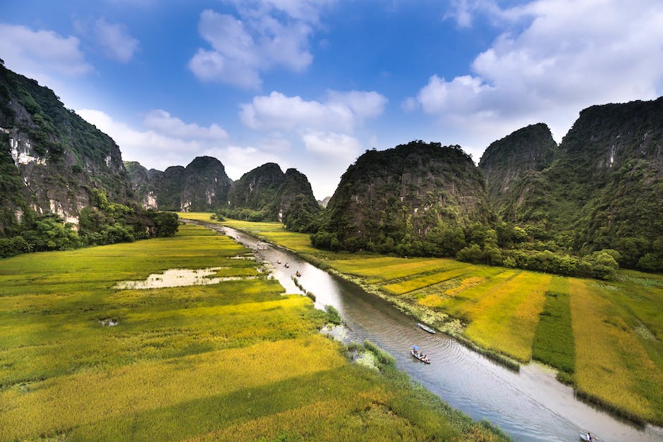
<instances>
[{"instance_id":1,"label":"overlapping pair of steep green mountains at far right","mask_svg":"<svg viewBox=\"0 0 663 442\"><path fill-rule=\"evenodd\" d=\"M615 250L621 265L662 271L663 97L583 110L542 169L528 161L549 134L531 128L493 143L480 161L497 212L529 237L516 248L558 257Z\"/></svg>"}]
</instances>

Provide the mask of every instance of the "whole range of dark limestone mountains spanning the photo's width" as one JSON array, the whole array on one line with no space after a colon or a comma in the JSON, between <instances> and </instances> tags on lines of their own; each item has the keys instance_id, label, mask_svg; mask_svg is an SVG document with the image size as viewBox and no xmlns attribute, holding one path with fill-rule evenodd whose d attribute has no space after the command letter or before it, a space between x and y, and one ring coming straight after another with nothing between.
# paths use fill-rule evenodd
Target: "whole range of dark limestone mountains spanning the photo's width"
<instances>
[{"instance_id":1,"label":"whole range of dark limestone mountains spanning the photo's width","mask_svg":"<svg viewBox=\"0 0 663 442\"><path fill-rule=\"evenodd\" d=\"M306 176L273 163L235 182L209 156L165 171L123 163L110 137L4 66L0 146L0 238L30 213L78 225L103 190L118 204L282 221L332 249L505 265L535 251L616 250L622 264L663 269L663 97L585 109L560 145L543 123L516 130L478 166L439 143L367 151L324 202Z\"/></svg>"}]
</instances>

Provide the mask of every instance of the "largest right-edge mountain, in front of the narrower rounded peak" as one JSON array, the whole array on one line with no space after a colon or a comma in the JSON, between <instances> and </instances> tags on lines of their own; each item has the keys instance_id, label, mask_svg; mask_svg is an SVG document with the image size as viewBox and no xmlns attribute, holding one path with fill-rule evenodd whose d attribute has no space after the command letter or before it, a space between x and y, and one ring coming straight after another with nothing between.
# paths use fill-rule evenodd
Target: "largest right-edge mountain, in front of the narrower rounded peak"
<instances>
[{"instance_id":1,"label":"largest right-edge mountain, in front of the narrower rounded peak","mask_svg":"<svg viewBox=\"0 0 663 442\"><path fill-rule=\"evenodd\" d=\"M507 219L537 223L565 247L614 248L633 264L633 250L663 243L663 97L581 111L552 164L501 202Z\"/></svg>"}]
</instances>

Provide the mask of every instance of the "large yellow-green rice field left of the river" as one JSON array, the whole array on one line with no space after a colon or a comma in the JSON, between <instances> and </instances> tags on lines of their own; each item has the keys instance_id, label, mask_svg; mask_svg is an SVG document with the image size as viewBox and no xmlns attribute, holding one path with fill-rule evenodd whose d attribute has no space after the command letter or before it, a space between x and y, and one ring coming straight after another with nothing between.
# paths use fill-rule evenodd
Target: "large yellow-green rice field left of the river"
<instances>
[{"instance_id":1,"label":"large yellow-green rice field left of the river","mask_svg":"<svg viewBox=\"0 0 663 442\"><path fill-rule=\"evenodd\" d=\"M181 226L1 260L0 440L503 439L388 365L348 362L324 312L233 259L247 251ZM114 288L209 267L243 279Z\"/></svg>"}]
</instances>

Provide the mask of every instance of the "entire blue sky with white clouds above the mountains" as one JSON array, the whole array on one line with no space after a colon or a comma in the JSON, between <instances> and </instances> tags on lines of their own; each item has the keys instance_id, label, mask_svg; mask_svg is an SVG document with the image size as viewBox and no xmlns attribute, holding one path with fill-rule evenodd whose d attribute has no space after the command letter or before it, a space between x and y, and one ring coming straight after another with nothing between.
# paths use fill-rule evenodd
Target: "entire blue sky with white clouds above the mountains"
<instances>
[{"instance_id":1,"label":"entire blue sky with white clouds above the mountains","mask_svg":"<svg viewBox=\"0 0 663 442\"><path fill-rule=\"evenodd\" d=\"M164 170L269 161L317 199L367 149L493 141L663 95L660 0L4 0L0 58Z\"/></svg>"}]
</instances>

